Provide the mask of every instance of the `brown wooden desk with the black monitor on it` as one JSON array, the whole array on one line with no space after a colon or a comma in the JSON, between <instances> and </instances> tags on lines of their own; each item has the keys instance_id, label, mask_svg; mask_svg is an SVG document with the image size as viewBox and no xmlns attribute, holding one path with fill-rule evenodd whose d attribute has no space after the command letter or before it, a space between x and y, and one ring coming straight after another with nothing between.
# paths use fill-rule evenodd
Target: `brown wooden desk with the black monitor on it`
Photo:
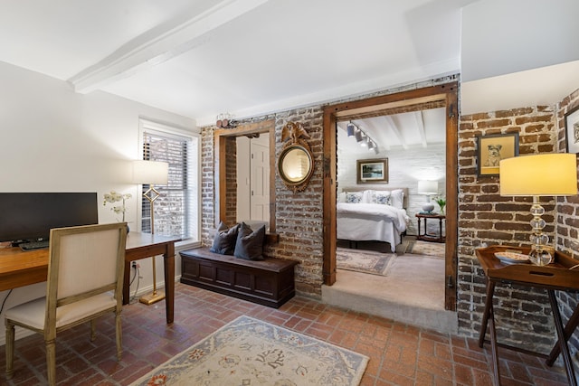
<instances>
[{"instance_id":1,"label":"brown wooden desk with the black monitor on it","mask_svg":"<svg viewBox=\"0 0 579 386\"><path fill-rule=\"evenodd\" d=\"M178 237L164 237L131 231L127 235L123 304L128 304L130 262L163 255L165 268L166 323L173 323L175 303L175 243ZM0 249L0 291L46 281L48 249L23 252L18 248Z\"/></svg>"}]
</instances>

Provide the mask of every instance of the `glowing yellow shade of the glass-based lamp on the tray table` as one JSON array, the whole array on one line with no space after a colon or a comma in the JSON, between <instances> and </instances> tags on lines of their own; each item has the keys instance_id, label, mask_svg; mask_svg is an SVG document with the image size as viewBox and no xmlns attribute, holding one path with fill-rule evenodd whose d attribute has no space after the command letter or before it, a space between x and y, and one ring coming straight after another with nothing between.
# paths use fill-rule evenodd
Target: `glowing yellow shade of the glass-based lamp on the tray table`
<instances>
[{"instance_id":1,"label":"glowing yellow shade of the glass-based lamp on the tray table","mask_svg":"<svg viewBox=\"0 0 579 386\"><path fill-rule=\"evenodd\" d=\"M577 194L574 154L523 155L499 163L501 195Z\"/></svg>"}]
</instances>

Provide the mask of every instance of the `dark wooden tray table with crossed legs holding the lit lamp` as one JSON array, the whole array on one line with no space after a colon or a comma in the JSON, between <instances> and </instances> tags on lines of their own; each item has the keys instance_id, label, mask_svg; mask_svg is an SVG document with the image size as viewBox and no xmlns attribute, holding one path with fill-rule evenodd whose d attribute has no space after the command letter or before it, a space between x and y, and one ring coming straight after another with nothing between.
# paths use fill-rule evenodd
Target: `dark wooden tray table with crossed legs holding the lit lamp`
<instances>
[{"instance_id":1,"label":"dark wooden tray table with crossed legs holding the lit lamp","mask_svg":"<svg viewBox=\"0 0 579 386\"><path fill-rule=\"evenodd\" d=\"M529 248L492 246L489 248L481 248L476 250L477 259L484 270L487 278L487 298L485 301L485 311L482 316L482 324L480 326L479 347L482 347L485 342L485 334L487 334L487 325L489 325L490 346L492 349L492 359L494 364L494 378L495 383L500 385L500 373L498 371L498 347L507 348L521 353L534 354L536 356L546 359L546 364L552 366L559 353L563 355L563 362L565 363L565 371L567 372L567 379L570 385L577 385L574 375L573 362L571 362L571 355L567 340L573 334L577 325L579 325L579 305L575 308L573 316L563 326L561 314L555 297L555 290L558 291L577 291L579 290L579 269L571 269L576 266L579 261L570 258L569 256L555 251L555 262L545 267L538 267L530 263L527 264L506 264L495 257L495 252L514 250L520 253L527 254ZM553 311L555 319L555 329L557 332L557 343L549 353L549 355L529 352L527 350L514 347L508 344L498 344L497 334L495 331L495 313L492 304L492 297L495 293L495 286L500 283L512 283L519 286L545 288Z\"/></svg>"}]
</instances>

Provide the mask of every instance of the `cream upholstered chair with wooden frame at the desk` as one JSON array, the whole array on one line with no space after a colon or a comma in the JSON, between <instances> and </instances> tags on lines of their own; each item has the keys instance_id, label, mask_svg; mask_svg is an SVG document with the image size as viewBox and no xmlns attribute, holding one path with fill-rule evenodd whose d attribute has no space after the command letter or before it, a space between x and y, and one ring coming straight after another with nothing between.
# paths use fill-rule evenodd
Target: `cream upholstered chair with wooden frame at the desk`
<instances>
[{"instance_id":1,"label":"cream upholstered chair with wooden frame at the desk","mask_svg":"<svg viewBox=\"0 0 579 386\"><path fill-rule=\"evenodd\" d=\"M122 354L120 311L127 224L113 223L51 231L46 297L14 306L5 313L6 377L14 372L14 325L44 335L48 382L56 384L56 334L114 313L117 358Z\"/></svg>"}]
</instances>

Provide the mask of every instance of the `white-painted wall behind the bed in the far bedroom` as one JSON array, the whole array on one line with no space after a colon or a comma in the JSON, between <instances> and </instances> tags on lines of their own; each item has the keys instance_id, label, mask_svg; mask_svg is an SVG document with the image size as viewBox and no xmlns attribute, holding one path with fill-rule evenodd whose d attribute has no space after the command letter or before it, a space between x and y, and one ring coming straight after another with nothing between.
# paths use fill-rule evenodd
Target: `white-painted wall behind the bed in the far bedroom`
<instances>
[{"instance_id":1,"label":"white-painted wall behind the bed in the far bedroom","mask_svg":"<svg viewBox=\"0 0 579 386\"><path fill-rule=\"evenodd\" d=\"M342 139L340 143L340 139ZM354 137L338 137L337 146L337 184L338 192L347 186L356 186L356 160L388 158L388 184L385 188L407 187L409 189L408 208L406 212L411 219L408 225L408 234L417 234L417 221L414 215L422 211L422 204L426 197L417 193L419 180L437 180L439 192L445 194L445 168L446 146L445 144L433 144L427 148L422 146L410 146L408 149L384 150L379 154L364 150L356 144ZM367 186L368 189L379 189L379 184L358 185ZM434 203L434 210L440 208ZM431 229L429 222L429 231Z\"/></svg>"}]
</instances>

